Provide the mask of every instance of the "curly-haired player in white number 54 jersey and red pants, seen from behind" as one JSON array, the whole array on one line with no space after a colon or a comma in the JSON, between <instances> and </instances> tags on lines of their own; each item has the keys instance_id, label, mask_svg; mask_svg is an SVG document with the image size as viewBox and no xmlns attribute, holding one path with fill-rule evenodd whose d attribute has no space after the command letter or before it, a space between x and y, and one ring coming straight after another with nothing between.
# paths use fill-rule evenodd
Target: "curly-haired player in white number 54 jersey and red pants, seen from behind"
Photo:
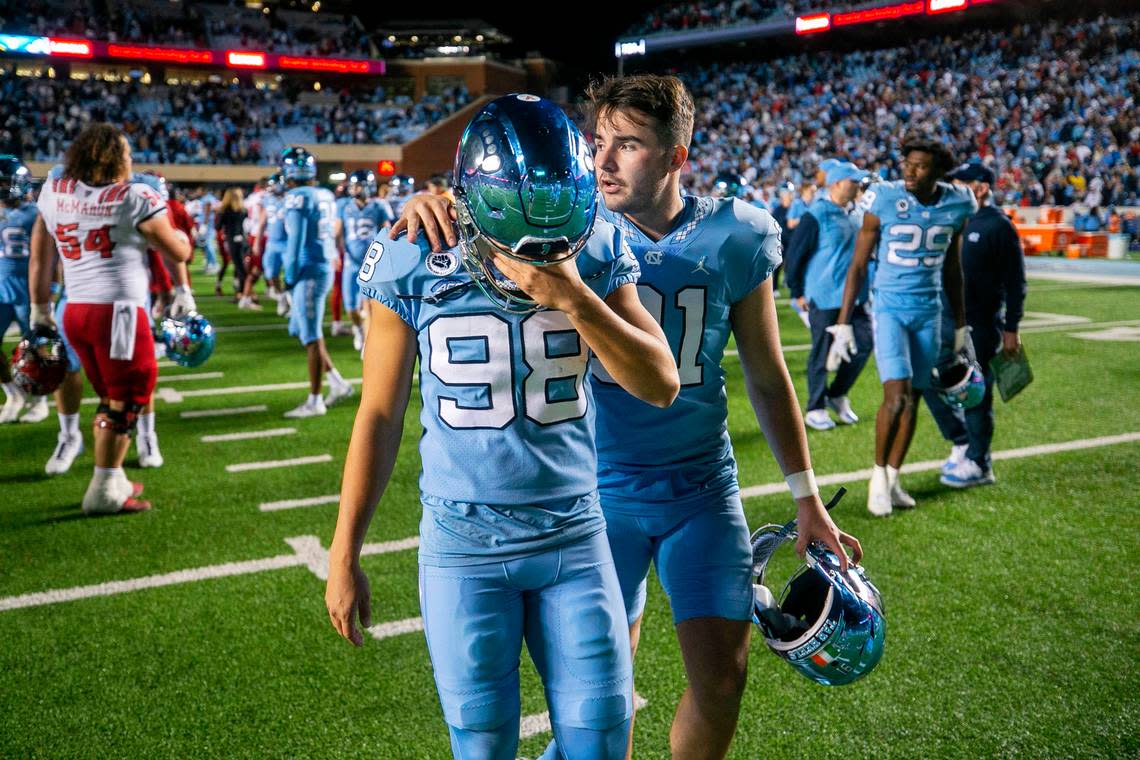
<instances>
[{"instance_id":1,"label":"curly-haired player in white number 54 jersey and red pants, seen from behind","mask_svg":"<svg viewBox=\"0 0 1140 760\"><path fill-rule=\"evenodd\" d=\"M64 327L99 397L85 514L150 507L138 499L141 485L122 469L157 377L146 313L146 248L160 251L171 265L190 255L189 239L171 227L162 197L130 177L122 131L105 123L87 126L68 148L62 175L40 191L41 216L32 231L32 321L55 321L49 299L59 255L68 287Z\"/></svg>"}]
</instances>

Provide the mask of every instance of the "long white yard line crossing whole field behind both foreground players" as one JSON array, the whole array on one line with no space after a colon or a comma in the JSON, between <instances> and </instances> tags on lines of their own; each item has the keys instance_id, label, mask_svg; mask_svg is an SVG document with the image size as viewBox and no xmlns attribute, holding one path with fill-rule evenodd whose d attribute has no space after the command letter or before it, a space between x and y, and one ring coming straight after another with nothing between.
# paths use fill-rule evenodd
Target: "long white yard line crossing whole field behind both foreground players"
<instances>
[{"instance_id":1,"label":"long white yard line crossing whole field behind both foreground players","mask_svg":"<svg viewBox=\"0 0 1140 760\"><path fill-rule=\"evenodd\" d=\"M1031 446L1020 449L1007 449L1005 451L995 451L993 453L994 459L1018 459L1021 457L1034 457L1045 453L1061 453L1065 451L1080 451L1082 449L1094 449L1105 446L1115 446L1117 443L1131 443L1134 441L1140 441L1140 432L1137 433L1123 433L1121 435L1105 435L1101 438L1091 439L1078 439L1075 441L1064 441L1061 443L1044 443L1041 446ZM903 466L904 473L912 472L923 472L928 469L938 469L942 467L942 460L935 459L929 461L918 461ZM840 473L837 475L823 475L817 479L821 485L844 483L860 480L868 480L871 477L870 469L860 469L852 473ZM746 489L741 489L741 498L749 498L754 496L765 496L768 493L780 493L788 489L787 484L783 482L779 483L767 483L764 485L751 485ZM306 549L307 556L302 557L296 548L294 548L293 554L279 555L276 557L269 557L266 559L249 559L245 562L227 562L220 565L205 565L202 567L194 567L192 570L179 570L172 573L163 573L160 575L146 575L142 578L132 578L130 580L121 581L107 581L105 583L96 583L93 586L79 586L74 588L65 589L52 589L48 591L34 591L31 594L21 594L18 596L0 597L0 612L8 610L19 610L22 607L35 607L46 604L59 604L60 602L73 602L75 599L85 599L95 596L112 596L115 594L125 594L128 591L138 591L146 588L158 588L161 586L172 586L174 583L188 583L199 580L207 580L212 578L226 578L229 575L243 575L247 573L256 573L266 570L279 570L282 567L296 567L296 566L310 566L310 562L317 555L314 553L315 547L320 547L319 539L312 536L294 537L292 539L286 539L286 542L296 541L298 539L303 539L299 545ZM314 544L316 542L316 544ZM290 544L293 547L293 544ZM408 549L414 549L420 546L420 538L412 537L405 539L397 539L394 541L384 541L380 544L365 544L360 547L360 556L370 556L377 554L391 554L394 551L406 551ZM320 547L320 551L324 548ZM323 570L327 572L327 570ZM318 575L319 577L319 575Z\"/></svg>"}]
</instances>

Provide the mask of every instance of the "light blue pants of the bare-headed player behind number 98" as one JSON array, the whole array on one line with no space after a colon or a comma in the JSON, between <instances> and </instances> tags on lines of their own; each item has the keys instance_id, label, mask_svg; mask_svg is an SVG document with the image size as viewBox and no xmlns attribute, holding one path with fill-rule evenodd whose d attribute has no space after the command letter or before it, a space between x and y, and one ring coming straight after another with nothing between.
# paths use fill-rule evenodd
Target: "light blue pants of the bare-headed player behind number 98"
<instances>
[{"instance_id":1,"label":"light blue pants of the bare-headed player behind number 98","mask_svg":"<svg viewBox=\"0 0 1140 760\"><path fill-rule=\"evenodd\" d=\"M612 468L604 469L600 481L614 483ZM678 504L638 505L629 498L636 491L600 489L605 534L630 624L645 611L651 562L669 597L674 624L691 618L751 620L752 549L735 472L730 460L712 477L720 483L718 489ZM669 474L660 471L660 476ZM616 495L621 498L614 499Z\"/></svg>"}]
</instances>

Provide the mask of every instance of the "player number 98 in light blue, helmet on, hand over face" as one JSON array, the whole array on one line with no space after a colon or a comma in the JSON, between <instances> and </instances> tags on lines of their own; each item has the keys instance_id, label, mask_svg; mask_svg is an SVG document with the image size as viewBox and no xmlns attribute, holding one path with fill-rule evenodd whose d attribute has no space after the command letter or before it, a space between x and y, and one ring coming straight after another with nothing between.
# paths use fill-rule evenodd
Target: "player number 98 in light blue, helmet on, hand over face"
<instances>
[{"instance_id":1,"label":"player number 98 in light blue, helmet on, hand over face","mask_svg":"<svg viewBox=\"0 0 1140 760\"><path fill-rule=\"evenodd\" d=\"M526 639L572 760L626 755L633 672L598 506L591 356L668 406L677 370L637 263L596 221L589 148L554 104L484 105L456 155L459 239L377 237L365 379L329 549L337 631L370 624L359 550L392 472L420 358L420 599L456 758L513 759ZM454 230L450 230L454 234Z\"/></svg>"}]
</instances>

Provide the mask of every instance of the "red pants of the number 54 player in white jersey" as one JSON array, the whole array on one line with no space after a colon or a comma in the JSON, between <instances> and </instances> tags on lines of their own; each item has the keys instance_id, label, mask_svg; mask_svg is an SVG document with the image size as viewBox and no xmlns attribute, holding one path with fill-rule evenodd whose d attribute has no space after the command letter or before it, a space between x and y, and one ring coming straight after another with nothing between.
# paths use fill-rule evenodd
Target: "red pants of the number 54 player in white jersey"
<instances>
[{"instance_id":1,"label":"red pants of the number 54 player in white jersey","mask_svg":"<svg viewBox=\"0 0 1140 760\"><path fill-rule=\"evenodd\" d=\"M135 307L133 353L130 359L112 359L112 327L115 307L111 303L68 302L63 325L96 394L103 399L144 406L154 393L158 365L154 358L154 335L146 309ZM120 319L128 319L120 314Z\"/></svg>"}]
</instances>

